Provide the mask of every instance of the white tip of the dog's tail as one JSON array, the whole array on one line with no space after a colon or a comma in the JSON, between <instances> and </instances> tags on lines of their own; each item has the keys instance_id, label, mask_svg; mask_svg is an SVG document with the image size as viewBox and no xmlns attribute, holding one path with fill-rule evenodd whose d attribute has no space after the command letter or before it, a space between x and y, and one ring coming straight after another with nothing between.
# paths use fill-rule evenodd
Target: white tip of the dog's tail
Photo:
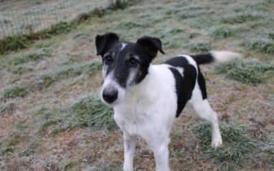
<instances>
[{"instance_id":1,"label":"white tip of the dog's tail","mask_svg":"<svg viewBox=\"0 0 274 171\"><path fill-rule=\"evenodd\" d=\"M214 60L219 63L229 62L230 60L242 57L239 53L231 51L210 51L210 54L214 57Z\"/></svg>"}]
</instances>

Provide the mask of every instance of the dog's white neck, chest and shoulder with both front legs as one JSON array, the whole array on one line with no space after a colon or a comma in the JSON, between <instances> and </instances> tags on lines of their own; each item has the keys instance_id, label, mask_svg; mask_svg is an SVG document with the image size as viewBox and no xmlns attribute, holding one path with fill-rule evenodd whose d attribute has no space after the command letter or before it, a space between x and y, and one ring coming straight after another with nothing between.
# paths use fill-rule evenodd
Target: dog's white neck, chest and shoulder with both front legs
<instances>
[{"instance_id":1,"label":"dog's white neck, chest and shoulder with both front legs","mask_svg":"<svg viewBox=\"0 0 274 171\"><path fill-rule=\"evenodd\" d=\"M156 170L169 170L169 134L175 120L175 79L167 65L149 67L149 75L114 105L114 120L124 133L124 170L133 170L136 136L153 150ZM157 100L156 100L157 99Z\"/></svg>"}]
</instances>

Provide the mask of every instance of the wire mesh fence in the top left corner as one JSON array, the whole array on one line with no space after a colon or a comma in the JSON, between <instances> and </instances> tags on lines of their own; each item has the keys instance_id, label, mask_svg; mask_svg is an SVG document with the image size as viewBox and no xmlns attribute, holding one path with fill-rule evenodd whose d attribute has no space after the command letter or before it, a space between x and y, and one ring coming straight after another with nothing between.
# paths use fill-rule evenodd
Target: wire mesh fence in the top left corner
<instances>
[{"instance_id":1,"label":"wire mesh fence in the top left corner","mask_svg":"<svg viewBox=\"0 0 274 171\"><path fill-rule=\"evenodd\" d=\"M105 8L113 0L0 0L0 38L27 34L79 14Z\"/></svg>"}]
</instances>

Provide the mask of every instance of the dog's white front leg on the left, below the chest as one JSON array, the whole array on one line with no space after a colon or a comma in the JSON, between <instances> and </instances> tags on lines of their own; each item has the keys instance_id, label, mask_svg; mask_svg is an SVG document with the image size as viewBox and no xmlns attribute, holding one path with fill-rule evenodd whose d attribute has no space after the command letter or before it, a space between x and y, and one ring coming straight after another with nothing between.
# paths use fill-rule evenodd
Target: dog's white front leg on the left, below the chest
<instances>
[{"instance_id":1,"label":"dog's white front leg on the left, below the chest","mask_svg":"<svg viewBox=\"0 0 274 171\"><path fill-rule=\"evenodd\" d=\"M136 137L124 132L124 171L133 170L133 158L136 147Z\"/></svg>"}]
</instances>

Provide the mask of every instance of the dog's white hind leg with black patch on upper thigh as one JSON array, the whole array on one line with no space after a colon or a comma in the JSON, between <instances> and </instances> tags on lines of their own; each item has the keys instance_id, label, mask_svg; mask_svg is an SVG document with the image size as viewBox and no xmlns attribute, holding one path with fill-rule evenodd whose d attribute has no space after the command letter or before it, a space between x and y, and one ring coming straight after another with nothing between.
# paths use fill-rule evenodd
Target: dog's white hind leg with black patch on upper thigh
<instances>
[{"instance_id":1,"label":"dog's white hind leg with black patch on upper thigh","mask_svg":"<svg viewBox=\"0 0 274 171\"><path fill-rule=\"evenodd\" d=\"M199 73L201 74L201 73ZM201 75L202 76L202 75ZM202 76L203 77L203 76ZM203 85L201 85L201 83ZM200 86L203 88L200 88ZM218 117L216 112L210 107L210 104L208 103L208 99L206 97L206 83L204 80L196 83L194 90L192 91L192 97L190 99L190 103L192 103L195 112L204 120L208 120L212 124L212 147L218 147L223 144L220 129L219 129L219 123L218 123ZM203 91L203 92L201 92Z\"/></svg>"}]
</instances>

